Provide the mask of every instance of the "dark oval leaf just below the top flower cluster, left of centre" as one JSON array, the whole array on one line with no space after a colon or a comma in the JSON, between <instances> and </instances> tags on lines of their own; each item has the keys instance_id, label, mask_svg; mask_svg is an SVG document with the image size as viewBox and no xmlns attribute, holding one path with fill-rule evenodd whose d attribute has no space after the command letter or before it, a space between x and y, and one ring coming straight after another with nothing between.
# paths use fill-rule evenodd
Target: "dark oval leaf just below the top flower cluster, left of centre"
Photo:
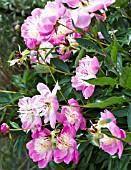
<instances>
[{"instance_id":1,"label":"dark oval leaf just below the top flower cluster, left of centre","mask_svg":"<svg viewBox=\"0 0 131 170\"><path fill-rule=\"evenodd\" d=\"M52 58L51 63L54 64L54 66L58 70L61 70L61 71L64 71L64 72L70 72L69 67L67 66L67 64L61 59Z\"/></svg>"}]
</instances>

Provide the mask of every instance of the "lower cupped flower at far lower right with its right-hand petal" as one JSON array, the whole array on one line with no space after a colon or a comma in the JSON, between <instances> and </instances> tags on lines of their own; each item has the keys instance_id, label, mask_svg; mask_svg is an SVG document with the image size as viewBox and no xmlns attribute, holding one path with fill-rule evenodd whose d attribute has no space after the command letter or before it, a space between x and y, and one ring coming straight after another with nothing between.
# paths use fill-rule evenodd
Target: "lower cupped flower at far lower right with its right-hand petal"
<instances>
[{"instance_id":1,"label":"lower cupped flower at far lower right with its right-hand petal","mask_svg":"<svg viewBox=\"0 0 131 170\"><path fill-rule=\"evenodd\" d=\"M108 129L113 136L116 136L120 139L124 139L126 137L125 131L120 129L114 123L109 123ZM110 155L118 154L118 157L121 158L123 152L123 143L121 140L108 137L104 134L104 137L101 138L99 142L100 148L102 148L105 152L109 153Z\"/></svg>"}]
</instances>

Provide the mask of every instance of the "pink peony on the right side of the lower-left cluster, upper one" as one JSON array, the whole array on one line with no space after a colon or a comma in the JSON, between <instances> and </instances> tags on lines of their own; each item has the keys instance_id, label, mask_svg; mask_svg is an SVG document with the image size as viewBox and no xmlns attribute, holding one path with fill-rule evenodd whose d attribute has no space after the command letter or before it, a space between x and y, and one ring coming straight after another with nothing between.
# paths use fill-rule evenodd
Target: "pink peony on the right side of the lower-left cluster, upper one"
<instances>
[{"instance_id":1,"label":"pink peony on the right side of the lower-left cluster, upper one","mask_svg":"<svg viewBox=\"0 0 131 170\"><path fill-rule=\"evenodd\" d=\"M68 100L70 106L62 106L61 113L57 115L57 120L61 123L73 125L77 131L79 128L85 130L86 120L82 116L81 109L76 100Z\"/></svg>"}]
</instances>

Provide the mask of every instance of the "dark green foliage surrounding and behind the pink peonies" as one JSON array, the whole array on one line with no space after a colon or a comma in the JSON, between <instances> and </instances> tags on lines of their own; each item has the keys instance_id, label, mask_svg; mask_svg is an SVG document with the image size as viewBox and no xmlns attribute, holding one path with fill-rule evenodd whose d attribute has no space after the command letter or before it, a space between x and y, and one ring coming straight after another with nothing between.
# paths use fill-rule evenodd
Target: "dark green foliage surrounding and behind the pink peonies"
<instances>
[{"instance_id":1,"label":"dark green foliage surrounding and behind the pink peonies","mask_svg":"<svg viewBox=\"0 0 131 170\"><path fill-rule=\"evenodd\" d=\"M49 75L41 70L32 71L30 65L25 66L8 66L6 62L10 53L14 50L18 51L18 44L24 50L25 44L20 37L20 31L14 30L16 24L22 24L24 19L30 15L31 11L36 7L44 7L45 0L1 0L0 1L0 89L14 91L14 93L0 92L0 123L7 122L11 127L18 128L20 120L17 113L18 99L23 96L33 96L37 94L36 84L38 82L47 83L52 88L54 82ZM90 56L96 55L101 62L101 69L98 73L99 77L112 78L107 86L102 86L104 81L95 81L96 90L93 96L88 100L87 107L83 108L83 114L87 119L87 127L90 127L88 120L95 120L99 117L100 111L104 108L111 110L117 117L118 126L126 131L131 131L131 2L128 0L117 0L107 13L105 23L92 22L88 30L89 37L97 39L97 31L101 31L104 35L102 48L99 42L95 42L90 38L78 40L80 50L86 50ZM115 36L108 34L108 30L117 30ZM107 59L103 60L101 53L105 52L116 65L116 70ZM77 60L80 55L76 54ZM83 56L82 56L83 57ZM56 59L57 60L57 59ZM71 56L68 66L60 65L52 61L52 66L62 71L75 71L73 67L74 56ZM77 62L77 61L76 61ZM61 75L53 72L54 77L61 80L61 91L68 100L71 97L76 98L79 102L86 103L80 93L77 93L70 83L70 76ZM118 74L120 74L118 76ZM122 76L121 76L122 75ZM112 83L111 83L112 82ZM91 83L91 82L90 82ZM15 93L17 91L18 93ZM64 103L61 94L58 94L58 100ZM98 102L99 101L99 102ZM13 105L13 107L11 107ZM8 106L8 107L6 107ZM13 109L12 109L13 108ZM14 123L16 122L16 124ZM79 131L77 138L83 132ZM82 141L89 140L87 133L82 137ZM11 135L0 133L0 167L3 170L37 170L37 164L34 164L25 149L25 144L29 140L30 134L23 132L13 132ZM129 136L131 138L131 136ZM81 140L81 139L80 139ZM127 139L128 140L128 139ZM131 139L130 139L131 140ZM82 142L79 145L80 159L78 165L70 163L69 165L56 164L53 161L45 168L45 170L130 170L131 169L131 147L124 143L125 150L121 160L116 156L110 156L99 148L93 146L89 141Z\"/></svg>"}]
</instances>

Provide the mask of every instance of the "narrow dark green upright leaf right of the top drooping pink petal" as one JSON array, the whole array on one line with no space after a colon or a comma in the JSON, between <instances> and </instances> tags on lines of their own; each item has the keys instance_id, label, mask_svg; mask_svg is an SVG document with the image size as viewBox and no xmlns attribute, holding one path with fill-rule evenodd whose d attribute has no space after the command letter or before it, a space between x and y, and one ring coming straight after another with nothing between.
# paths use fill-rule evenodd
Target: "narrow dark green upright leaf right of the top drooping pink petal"
<instances>
[{"instance_id":1,"label":"narrow dark green upright leaf right of the top drooping pink petal","mask_svg":"<svg viewBox=\"0 0 131 170\"><path fill-rule=\"evenodd\" d=\"M110 36L109 36L109 34L108 34L108 31L107 31L107 28L106 28L106 26L105 26L105 23L102 22L101 20L100 20L100 31L101 31L102 35L104 36L104 38L105 38L108 42L111 42L111 41L112 41L111 38L110 38Z\"/></svg>"}]
</instances>

